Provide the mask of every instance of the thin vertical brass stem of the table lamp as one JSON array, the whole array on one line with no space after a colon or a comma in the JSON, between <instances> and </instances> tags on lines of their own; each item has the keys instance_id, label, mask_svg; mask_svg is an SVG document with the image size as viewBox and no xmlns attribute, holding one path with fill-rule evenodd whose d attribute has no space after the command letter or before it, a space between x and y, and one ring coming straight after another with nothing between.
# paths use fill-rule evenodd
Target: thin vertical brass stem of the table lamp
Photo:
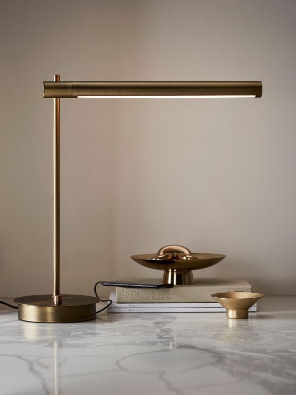
<instances>
[{"instance_id":1,"label":"thin vertical brass stem of the table lamp","mask_svg":"<svg viewBox=\"0 0 296 395\"><path fill-rule=\"evenodd\" d=\"M53 80L60 81L54 74ZM53 98L53 301L62 303L60 295L60 99Z\"/></svg>"}]
</instances>

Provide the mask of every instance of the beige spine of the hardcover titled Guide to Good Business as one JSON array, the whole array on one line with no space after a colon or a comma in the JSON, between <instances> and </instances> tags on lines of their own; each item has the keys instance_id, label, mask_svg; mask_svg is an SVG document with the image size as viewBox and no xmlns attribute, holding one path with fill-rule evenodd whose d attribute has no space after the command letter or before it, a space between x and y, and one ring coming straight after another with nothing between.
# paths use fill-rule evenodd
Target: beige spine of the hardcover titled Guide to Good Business
<instances>
[{"instance_id":1,"label":"beige spine of the hardcover titled Guide to Good Business","mask_svg":"<svg viewBox=\"0 0 296 395\"><path fill-rule=\"evenodd\" d=\"M174 286L167 289L129 289L116 287L116 303L205 303L214 302L213 293L252 292L250 285L238 286Z\"/></svg>"}]
</instances>

